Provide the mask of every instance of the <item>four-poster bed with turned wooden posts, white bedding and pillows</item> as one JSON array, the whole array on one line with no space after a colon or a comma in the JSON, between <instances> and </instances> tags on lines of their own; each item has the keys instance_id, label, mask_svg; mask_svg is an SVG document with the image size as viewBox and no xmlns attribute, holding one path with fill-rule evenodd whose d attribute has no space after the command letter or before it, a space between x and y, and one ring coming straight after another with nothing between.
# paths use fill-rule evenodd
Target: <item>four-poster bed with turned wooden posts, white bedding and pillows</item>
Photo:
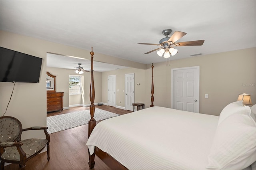
<instances>
[{"instance_id":1,"label":"four-poster bed with turned wooden posts, white bedding and pillows","mask_svg":"<svg viewBox=\"0 0 256 170\"><path fill-rule=\"evenodd\" d=\"M153 104L153 64L150 107L106 119L96 126L94 53L91 51L90 54L91 119L86 143L90 168L94 168L96 154L111 169L118 170L251 169L250 165L256 161L256 144L253 142L256 140L256 123L250 107L244 107L240 101L234 102L223 109L220 117L156 107ZM233 130L238 126L238 131Z\"/></svg>"}]
</instances>

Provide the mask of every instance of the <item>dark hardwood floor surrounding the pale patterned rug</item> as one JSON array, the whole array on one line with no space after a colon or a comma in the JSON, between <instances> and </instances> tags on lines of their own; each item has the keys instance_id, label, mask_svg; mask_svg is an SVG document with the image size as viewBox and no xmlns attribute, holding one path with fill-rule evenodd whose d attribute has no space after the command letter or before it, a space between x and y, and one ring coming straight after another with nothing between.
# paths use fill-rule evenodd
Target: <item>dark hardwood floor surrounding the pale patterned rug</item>
<instances>
[{"instance_id":1,"label":"dark hardwood floor surrounding the pale patterned rug","mask_svg":"<svg viewBox=\"0 0 256 170\"><path fill-rule=\"evenodd\" d=\"M111 106L95 106L106 111L123 115L131 113L123 109ZM88 110L89 107L71 107L63 112L47 113L47 116L72 113L81 110ZM100 121L98 121L100 122ZM98 123L96 122L96 123ZM43 152L26 163L26 170L89 170L88 167L88 124L70 128L50 134L50 160L47 160L47 153ZM95 156L94 170L110 170L102 160ZM10 164L4 170L19 170L18 164Z\"/></svg>"}]
</instances>

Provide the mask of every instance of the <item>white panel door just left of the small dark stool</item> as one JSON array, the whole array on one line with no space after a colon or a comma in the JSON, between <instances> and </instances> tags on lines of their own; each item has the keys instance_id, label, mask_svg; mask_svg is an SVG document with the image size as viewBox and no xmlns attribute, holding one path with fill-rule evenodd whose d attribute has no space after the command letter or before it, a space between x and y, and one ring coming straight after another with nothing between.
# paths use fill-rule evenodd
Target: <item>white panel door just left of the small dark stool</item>
<instances>
[{"instance_id":1,"label":"white panel door just left of the small dark stool","mask_svg":"<svg viewBox=\"0 0 256 170\"><path fill-rule=\"evenodd\" d=\"M132 111L134 103L134 73L125 74L125 109Z\"/></svg>"}]
</instances>

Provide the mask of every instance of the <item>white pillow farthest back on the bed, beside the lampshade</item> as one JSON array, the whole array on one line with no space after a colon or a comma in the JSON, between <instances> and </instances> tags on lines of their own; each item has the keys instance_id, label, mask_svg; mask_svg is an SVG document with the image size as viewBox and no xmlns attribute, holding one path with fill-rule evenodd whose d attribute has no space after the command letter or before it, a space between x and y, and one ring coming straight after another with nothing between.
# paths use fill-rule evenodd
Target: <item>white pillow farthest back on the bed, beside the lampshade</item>
<instances>
[{"instance_id":1,"label":"white pillow farthest back on the bed, beside the lampshade","mask_svg":"<svg viewBox=\"0 0 256 170\"><path fill-rule=\"evenodd\" d=\"M224 109L222 109L221 113L220 113L220 118L218 121L218 125L220 125L220 123L226 119L227 117L229 117L230 115L236 113L237 111L240 111L244 109L244 105L243 105L243 101L235 101L233 103L230 103L228 105L226 105L226 107L224 107Z\"/></svg>"}]
</instances>

